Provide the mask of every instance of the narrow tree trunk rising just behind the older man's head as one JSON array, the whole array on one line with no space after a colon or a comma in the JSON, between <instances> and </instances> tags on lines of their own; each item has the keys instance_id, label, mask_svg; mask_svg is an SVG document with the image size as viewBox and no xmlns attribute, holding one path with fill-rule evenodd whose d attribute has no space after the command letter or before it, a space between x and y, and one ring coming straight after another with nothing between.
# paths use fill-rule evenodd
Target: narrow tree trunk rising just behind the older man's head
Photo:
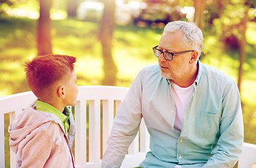
<instances>
[{"instance_id":1,"label":"narrow tree trunk rising just behind the older man's head","mask_svg":"<svg viewBox=\"0 0 256 168\"><path fill-rule=\"evenodd\" d=\"M194 0L194 8L195 8L194 22L203 31L203 17L204 17L203 10L205 10L206 8L206 1Z\"/></svg>"}]
</instances>

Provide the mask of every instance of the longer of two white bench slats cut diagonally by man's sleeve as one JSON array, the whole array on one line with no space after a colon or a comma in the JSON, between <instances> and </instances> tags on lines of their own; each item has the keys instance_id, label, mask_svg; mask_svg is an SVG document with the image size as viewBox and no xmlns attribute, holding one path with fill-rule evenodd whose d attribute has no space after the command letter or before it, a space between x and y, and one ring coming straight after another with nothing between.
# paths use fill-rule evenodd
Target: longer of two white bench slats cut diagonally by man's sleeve
<instances>
[{"instance_id":1,"label":"longer of two white bench slats cut diagonally by man's sleeve","mask_svg":"<svg viewBox=\"0 0 256 168\"><path fill-rule=\"evenodd\" d=\"M104 153L107 148L107 139L112 129L112 123L114 120L114 100L103 100L103 118L102 118L102 130L103 130L103 137L102 137L102 152Z\"/></svg>"}]
</instances>

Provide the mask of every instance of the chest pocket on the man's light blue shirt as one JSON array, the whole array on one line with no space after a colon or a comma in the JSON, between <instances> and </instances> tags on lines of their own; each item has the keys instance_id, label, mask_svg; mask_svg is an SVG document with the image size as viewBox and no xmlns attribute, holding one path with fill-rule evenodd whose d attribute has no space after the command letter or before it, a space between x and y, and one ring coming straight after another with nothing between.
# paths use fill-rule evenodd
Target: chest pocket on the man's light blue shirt
<instances>
[{"instance_id":1,"label":"chest pocket on the man's light blue shirt","mask_svg":"<svg viewBox=\"0 0 256 168\"><path fill-rule=\"evenodd\" d=\"M201 141L206 141L210 144L215 143L220 134L220 115L207 111L199 111L196 115L196 136Z\"/></svg>"}]
</instances>

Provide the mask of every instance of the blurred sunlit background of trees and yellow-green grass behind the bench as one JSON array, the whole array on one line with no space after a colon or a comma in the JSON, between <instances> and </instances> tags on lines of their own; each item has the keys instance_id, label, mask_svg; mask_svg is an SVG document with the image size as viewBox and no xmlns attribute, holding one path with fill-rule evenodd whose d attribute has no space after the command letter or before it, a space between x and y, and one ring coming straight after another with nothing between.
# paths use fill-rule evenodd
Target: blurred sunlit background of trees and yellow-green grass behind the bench
<instances>
[{"instance_id":1,"label":"blurred sunlit background of trees and yellow-green grass behind the bench","mask_svg":"<svg viewBox=\"0 0 256 168\"><path fill-rule=\"evenodd\" d=\"M201 62L237 81L245 141L256 144L255 0L0 0L0 96L29 90L22 62L73 55L78 85L129 87L170 21L203 30Z\"/></svg>"}]
</instances>

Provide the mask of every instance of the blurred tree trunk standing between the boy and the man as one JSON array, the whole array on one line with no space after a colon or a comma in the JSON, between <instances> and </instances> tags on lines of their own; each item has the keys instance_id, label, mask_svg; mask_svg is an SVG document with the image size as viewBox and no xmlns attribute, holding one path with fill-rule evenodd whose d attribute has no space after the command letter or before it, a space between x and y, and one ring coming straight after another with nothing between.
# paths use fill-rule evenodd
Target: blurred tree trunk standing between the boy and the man
<instances>
[{"instance_id":1,"label":"blurred tree trunk standing between the boy and the man","mask_svg":"<svg viewBox=\"0 0 256 168\"><path fill-rule=\"evenodd\" d=\"M104 0L105 9L100 22L99 39L102 44L104 78L102 85L115 85L117 68L112 57L112 37L115 27L115 1Z\"/></svg>"}]
</instances>

